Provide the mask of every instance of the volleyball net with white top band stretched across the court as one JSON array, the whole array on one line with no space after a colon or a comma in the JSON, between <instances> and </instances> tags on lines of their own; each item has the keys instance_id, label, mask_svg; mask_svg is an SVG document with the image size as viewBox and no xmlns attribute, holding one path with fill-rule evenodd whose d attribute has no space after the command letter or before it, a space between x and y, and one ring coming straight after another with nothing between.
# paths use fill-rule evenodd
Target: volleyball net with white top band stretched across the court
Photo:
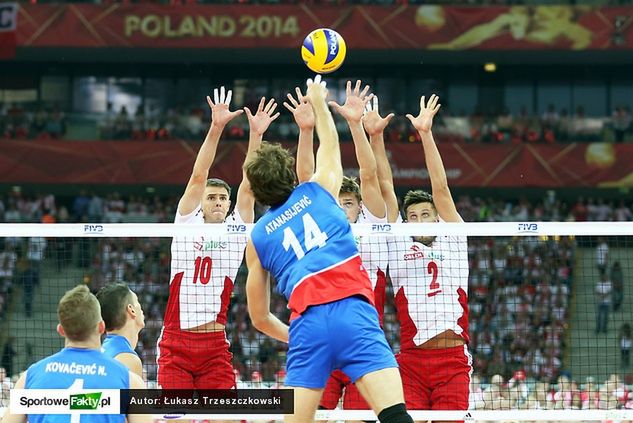
<instances>
[{"instance_id":1,"label":"volleyball net with white top band stretched across the court","mask_svg":"<svg viewBox=\"0 0 633 423\"><path fill-rule=\"evenodd\" d=\"M148 388L158 388L163 328L211 321L225 325L238 389L283 388L287 346L259 333L248 317L242 258L250 229L0 225L2 405L20 372L63 347L56 309L78 284L96 293L123 282L137 294L145 327L136 351ZM633 277L633 223L360 224L353 231L370 279L384 273L375 281L376 304L394 353L409 357L401 365L405 392L425 404L411 411L415 420L633 419L633 295L626 283ZM322 241L289 240L286 250L298 254ZM168 307L178 274L179 298L172 299L178 307ZM276 291L271 310L288 322ZM472 373L466 382L446 379L455 364L433 355L442 346L438 335L452 346L467 342L462 354L472 359ZM205 352L189 349L184 360L194 363ZM446 392L463 390L466 406L425 410L452 401ZM375 419L345 381L330 380L322 405L318 419ZM283 416L209 411L182 418Z\"/></svg>"}]
</instances>

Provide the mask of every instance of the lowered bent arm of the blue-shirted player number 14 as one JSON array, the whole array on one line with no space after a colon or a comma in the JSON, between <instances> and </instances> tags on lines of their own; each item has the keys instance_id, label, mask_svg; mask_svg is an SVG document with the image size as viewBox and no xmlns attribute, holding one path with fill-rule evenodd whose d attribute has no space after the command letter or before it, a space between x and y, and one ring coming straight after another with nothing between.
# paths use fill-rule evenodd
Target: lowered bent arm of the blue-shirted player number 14
<instances>
[{"instance_id":1,"label":"lowered bent arm of the blue-shirted player number 14","mask_svg":"<svg viewBox=\"0 0 633 423\"><path fill-rule=\"evenodd\" d=\"M253 326L272 338L288 342L288 326L270 312L270 277L250 240L246 245L246 265L246 302Z\"/></svg>"}]
</instances>

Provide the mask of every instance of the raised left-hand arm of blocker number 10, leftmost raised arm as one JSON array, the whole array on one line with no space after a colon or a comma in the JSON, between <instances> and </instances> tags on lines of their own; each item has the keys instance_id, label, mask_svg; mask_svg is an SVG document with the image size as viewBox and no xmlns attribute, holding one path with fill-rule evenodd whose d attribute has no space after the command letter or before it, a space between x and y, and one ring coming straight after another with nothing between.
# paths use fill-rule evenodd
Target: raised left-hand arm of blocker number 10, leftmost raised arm
<instances>
[{"instance_id":1,"label":"raised left-hand arm of blocker number 10, leftmost raised arm","mask_svg":"<svg viewBox=\"0 0 633 423\"><path fill-rule=\"evenodd\" d=\"M225 95L224 87L221 87L219 92L217 88L213 90L213 101L207 96L207 103L211 109L211 126L200 151L198 151L185 193L178 203L178 213L183 216L190 214L200 205L222 131L227 123L242 114L242 110L229 111L231 96L231 90Z\"/></svg>"}]
</instances>

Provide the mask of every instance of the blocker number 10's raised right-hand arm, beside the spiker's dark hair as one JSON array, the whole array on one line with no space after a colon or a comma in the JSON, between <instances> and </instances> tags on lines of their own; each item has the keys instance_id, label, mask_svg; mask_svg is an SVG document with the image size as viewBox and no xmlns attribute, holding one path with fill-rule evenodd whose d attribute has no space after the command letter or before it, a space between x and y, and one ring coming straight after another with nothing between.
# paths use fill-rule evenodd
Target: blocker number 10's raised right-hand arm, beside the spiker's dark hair
<instances>
[{"instance_id":1,"label":"blocker number 10's raised right-hand arm, beside the spiker's dark hair","mask_svg":"<svg viewBox=\"0 0 633 423\"><path fill-rule=\"evenodd\" d=\"M266 132L271 122L279 117L279 112L275 113L276 108L277 103L275 103L275 99L271 98L266 104L266 97L262 97L260 100L255 114L252 114L248 107L244 107L250 128L245 162L261 145L264 132ZM255 197L253 196L253 191L251 191L251 184L246 177L245 171L242 171L242 182L240 182L240 187L237 189L235 208L245 223L254 222Z\"/></svg>"}]
</instances>

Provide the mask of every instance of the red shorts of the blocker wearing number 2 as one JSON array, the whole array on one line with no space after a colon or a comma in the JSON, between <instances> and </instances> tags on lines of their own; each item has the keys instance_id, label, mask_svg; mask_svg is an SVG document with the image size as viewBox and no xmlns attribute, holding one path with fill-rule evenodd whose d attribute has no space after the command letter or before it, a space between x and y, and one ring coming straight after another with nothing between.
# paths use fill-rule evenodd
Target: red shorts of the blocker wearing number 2
<instances>
[{"instance_id":1,"label":"red shorts of the blocker wearing number 2","mask_svg":"<svg viewBox=\"0 0 633 423\"><path fill-rule=\"evenodd\" d=\"M396 355L407 410L468 410L472 357L465 345Z\"/></svg>"}]
</instances>

